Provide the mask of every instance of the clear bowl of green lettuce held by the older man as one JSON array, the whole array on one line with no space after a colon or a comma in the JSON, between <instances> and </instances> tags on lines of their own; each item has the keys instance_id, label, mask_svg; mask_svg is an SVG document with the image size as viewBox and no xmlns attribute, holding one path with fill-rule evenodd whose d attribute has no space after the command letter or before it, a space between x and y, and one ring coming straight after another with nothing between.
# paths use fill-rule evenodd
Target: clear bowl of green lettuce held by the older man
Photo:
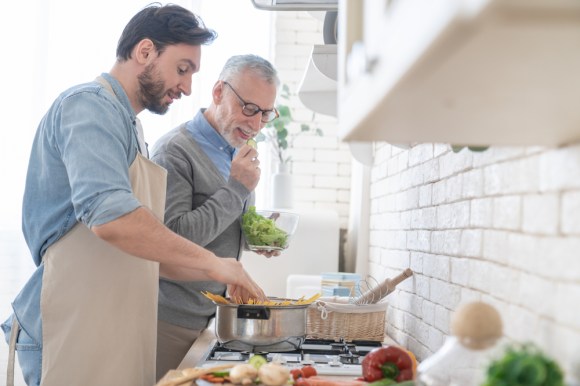
<instances>
[{"instance_id":1,"label":"clear bowl of green lettuce held by the older man","mask_svg":"<svg viewBox=\"0 0 580 386\"><path fill-rule=\"evenodd\" d=\"M298 227L296 213L256 210L250 206L242 215L242 231L252 251L281 251L288 248Z\"/></svg>"}]
</instances>

